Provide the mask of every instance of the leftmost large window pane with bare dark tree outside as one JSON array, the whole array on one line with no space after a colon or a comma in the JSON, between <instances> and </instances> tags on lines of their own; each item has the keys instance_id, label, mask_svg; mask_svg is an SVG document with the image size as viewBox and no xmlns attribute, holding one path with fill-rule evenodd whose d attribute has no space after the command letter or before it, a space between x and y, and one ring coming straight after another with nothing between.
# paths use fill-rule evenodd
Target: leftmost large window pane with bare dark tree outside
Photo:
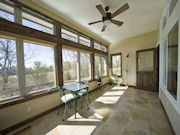
<instances>
[{"instance_id":1,"label":"leftmost large window pane with bare dark tree outside","mask_svg":"<svg viewBox=\"0 0 180 135\"><path fill-rule=\"evenodd\" d=\"M0 100L20 94L16 72L16 41L0 38Z\"/></svg>"}]
</instances>

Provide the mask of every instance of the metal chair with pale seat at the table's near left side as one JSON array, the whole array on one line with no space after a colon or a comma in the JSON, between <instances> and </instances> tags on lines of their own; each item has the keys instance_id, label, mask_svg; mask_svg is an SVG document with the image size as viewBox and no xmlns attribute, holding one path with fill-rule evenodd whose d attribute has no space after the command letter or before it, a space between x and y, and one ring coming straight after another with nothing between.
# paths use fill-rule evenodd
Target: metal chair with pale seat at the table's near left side
<instances>
[{"instance_id":1,"label":"metal chair with pale seat at the table's near left side","mask_svg":"<svg viewBox=\"0 0 180 135\"><path fill-rule=\"evenodd\" d=\"M62 119L64 121L64 118L65 118L66 112L67 112L67 103L77 100L77 96L72 93L65 94L64 90L60 87L59 87L59 93L60 93L61 102L63 102L65 104L64 114L63 114L63 119ZM63 93L63 95L62 95L62 93Z\"/></svg>"}]
</instances>

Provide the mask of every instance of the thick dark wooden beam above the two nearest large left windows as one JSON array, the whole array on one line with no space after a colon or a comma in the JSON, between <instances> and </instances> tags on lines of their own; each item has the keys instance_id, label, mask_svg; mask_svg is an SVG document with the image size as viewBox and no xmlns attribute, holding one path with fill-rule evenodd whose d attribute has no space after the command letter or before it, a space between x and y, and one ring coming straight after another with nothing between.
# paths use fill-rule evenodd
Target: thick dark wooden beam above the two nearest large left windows
<instances>
[{"instance_id":1,"label":"thick dark wooden beam above the two nearest large left windows","mask_svg":"<svg viewBox=\"0 0 180 135\"><path fill-rule=\"evenodd\" d=\"M1 18L0 21L0 34L5 34L6 36L12 35L18 38L21 37L25 40L31 40L35 42L41 42L41 40L50 44L55 44L57 42L57 39L54 35L29 28L21 24L10 22L3 18Z\"/></svg>"}]
</instances>

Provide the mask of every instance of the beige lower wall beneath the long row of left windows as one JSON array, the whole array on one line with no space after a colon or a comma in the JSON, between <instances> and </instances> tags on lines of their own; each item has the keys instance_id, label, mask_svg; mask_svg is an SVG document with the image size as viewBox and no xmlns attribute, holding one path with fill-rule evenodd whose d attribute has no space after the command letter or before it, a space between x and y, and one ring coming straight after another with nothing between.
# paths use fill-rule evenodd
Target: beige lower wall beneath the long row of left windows
<instances>
[{"instance_id":1,"label":"beige lower wall beneath the long row of left windows","mask_svg":"<svg viewBox=\"0 0 180 135\"><path fill-rule=\"evenodd\" d=\"M102 79L102 83L109 82L109 77ZM89 84L89 91L97 88L96 81ZM0 110L0 130L29 119L41 112L60 104L59 93L50 94L27 102L19 103Z\"/></svg>"}]
</instances>

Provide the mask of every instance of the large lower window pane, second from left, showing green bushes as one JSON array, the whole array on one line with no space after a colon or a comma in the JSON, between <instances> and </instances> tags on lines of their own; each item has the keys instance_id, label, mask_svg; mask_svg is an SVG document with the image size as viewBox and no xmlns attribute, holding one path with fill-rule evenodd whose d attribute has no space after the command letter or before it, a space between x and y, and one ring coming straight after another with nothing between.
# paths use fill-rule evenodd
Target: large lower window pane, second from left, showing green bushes
<instances>
[{"instance_id":1,"label":"large lower window pane, second from left, showing green bushes","mask_svg":"<svg viewBox=\"0 0 180 135\"><path fill-rule=\"evenodd\" d=\"M24 42L24 57L28 92L55 86L54 48Z\"/></svg>"}]
</instances>

